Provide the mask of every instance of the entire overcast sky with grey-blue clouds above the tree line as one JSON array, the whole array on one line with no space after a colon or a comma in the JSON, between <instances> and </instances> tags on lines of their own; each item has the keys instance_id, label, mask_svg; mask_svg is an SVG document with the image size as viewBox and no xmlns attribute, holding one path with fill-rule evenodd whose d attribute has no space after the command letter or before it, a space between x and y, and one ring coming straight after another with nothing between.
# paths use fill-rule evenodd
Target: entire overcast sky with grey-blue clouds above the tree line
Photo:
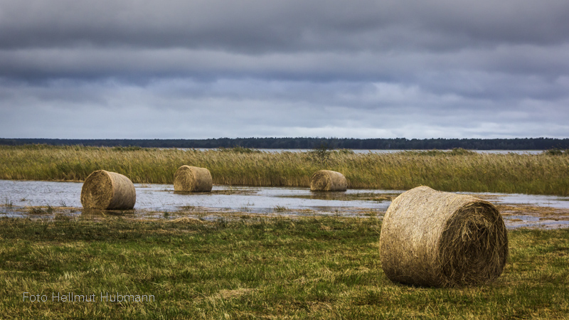
<instances>
[{"instance_id":1,"label":"entire overcast sky with grey-blue clouds above the tree line","mask_svg":"<svg viewBox=\"0 0 569 320\"><path fill-rule=\"evenodd\" d=\"M0 0L0 137L569 137L567 0Z\"/></svg>"}]
</instances>

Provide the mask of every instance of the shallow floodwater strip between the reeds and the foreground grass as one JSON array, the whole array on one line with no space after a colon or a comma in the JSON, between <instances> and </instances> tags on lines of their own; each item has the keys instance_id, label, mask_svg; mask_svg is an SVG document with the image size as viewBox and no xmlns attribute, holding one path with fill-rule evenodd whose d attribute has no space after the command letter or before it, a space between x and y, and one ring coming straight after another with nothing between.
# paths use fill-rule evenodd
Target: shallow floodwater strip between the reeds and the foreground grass
<instances>
[{"instance_id":1,"label":"shallow floodwater strip between the reeds and the foreground grass","mask_svg":"<svg viewBox=\"0 0 569 320\"><path fill-rule=\"evenodd\" d=\"M403 191L356 190L314 193L308 188L214 186L211 193L174 193L174 186L135 184L134 210L83 210L78 182L0 180L0 217L119 214L132 218L196 218L273 215L341 215L382 218ZM568 228L569 198L503 193L468 193L498 206L508 228Z\"/></svg>"}]
</instances>

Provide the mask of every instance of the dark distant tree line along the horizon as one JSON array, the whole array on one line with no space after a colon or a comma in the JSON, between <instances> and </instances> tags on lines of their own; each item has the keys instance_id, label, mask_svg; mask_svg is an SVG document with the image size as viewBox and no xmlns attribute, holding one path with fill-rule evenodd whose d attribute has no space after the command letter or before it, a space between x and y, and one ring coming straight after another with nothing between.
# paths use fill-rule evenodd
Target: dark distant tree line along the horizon
<instances>
[{"instance_id":1,"label":"dark distant tree line along the horizon","mask_svg":"<svg viewBox=\"0 0 569 320\"><path fill-rule=\"evenodd\" d=\"M220 138L220 139L2 139L0 144L50 144L83 146L141 146L151 148L233 148L253 149L472 149L548 150L569 149L569 139L342 139L342 138Z\"/></svg>"}]
</instances>

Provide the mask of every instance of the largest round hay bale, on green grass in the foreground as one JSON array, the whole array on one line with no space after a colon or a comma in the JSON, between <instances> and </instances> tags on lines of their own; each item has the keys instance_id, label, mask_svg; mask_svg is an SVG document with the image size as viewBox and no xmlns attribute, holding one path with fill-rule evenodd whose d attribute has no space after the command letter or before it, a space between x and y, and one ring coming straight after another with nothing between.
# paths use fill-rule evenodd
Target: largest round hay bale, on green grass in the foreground
<instances>
[{"instance_id":1,"label":"largest round hay bale, on green grass in the foreground","mask_svg":"<svg viewBox=\"0 0 569 320\"><path fill-rule=\"evenodd\" d=\"M395 198L379 242L389 279L427 287L491 282L508 257L508 234L495 206L427 186Z\"/></svg>"}]
</instances>

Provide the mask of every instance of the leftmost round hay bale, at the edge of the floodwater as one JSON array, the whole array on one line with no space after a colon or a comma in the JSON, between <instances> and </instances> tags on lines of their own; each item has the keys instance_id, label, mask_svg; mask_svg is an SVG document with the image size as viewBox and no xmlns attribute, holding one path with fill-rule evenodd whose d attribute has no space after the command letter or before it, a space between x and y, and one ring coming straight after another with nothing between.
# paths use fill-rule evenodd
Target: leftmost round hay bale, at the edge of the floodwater
<instances>
[{"instance_id":1,"label":"leftmost round hay bale, at the edge of the floodwater","mask_svg":"<svg viewBox=\"0 0 569 320\"><path fill-rule=\"evenodd\" d=\"M137 191L129 178L116 172L92 172L81 188L83 208L129 210L137 202Z\"/></svg>"}]
</instances>

